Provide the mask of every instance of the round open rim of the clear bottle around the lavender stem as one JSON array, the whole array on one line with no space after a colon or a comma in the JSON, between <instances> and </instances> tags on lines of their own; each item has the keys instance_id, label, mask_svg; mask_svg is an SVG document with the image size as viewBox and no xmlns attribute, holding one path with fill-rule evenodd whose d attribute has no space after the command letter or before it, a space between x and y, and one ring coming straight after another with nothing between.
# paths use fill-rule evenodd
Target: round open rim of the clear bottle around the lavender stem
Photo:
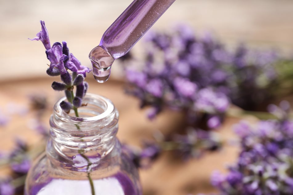
<instances>
[{"instance_id":1,"label":"round open rim of the clear bottle around the lavender stem","mask_svg":"<svg viewBox=\"0 0 293 195\"><path fill-rule=\"evenodd\" d=\"M69 113L66 113L61 107L61 101L67 101L66 97L62 97L56 102L54 106L55 114L71 122L97 122L100 120L106 120L108 117L112 117L115 113L114 104L108 98L105 98L96 94L86 94L83 97L83 106L77 109L79 116L75 116L73 109Z\"/></svg>"}]
</instances>

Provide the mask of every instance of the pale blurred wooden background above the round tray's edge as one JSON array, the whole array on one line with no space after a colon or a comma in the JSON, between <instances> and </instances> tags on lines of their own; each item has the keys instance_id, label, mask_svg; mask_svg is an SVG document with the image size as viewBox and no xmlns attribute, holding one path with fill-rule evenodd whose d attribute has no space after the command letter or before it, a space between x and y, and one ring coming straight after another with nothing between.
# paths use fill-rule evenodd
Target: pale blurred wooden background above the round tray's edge
<instances>
[{"instance_id":1,"label":"pale blurred wooden background above the round tray's edge","mask_svg":"<svg viewBox=\"0 0 293 195\"><path fill-rule=\"evenodd\" d=\"M67 41L70 51L90 67L89 52L131 2L0 0L0 80L46 76L42 44L27 40L40 31L39 20L46 22L51 43ZM176 22L189 24L197 34L212 31L228 47L247 42L292 53L291 0L177 0L152 30L167 30Z\"/></svg>"}]
</instances>

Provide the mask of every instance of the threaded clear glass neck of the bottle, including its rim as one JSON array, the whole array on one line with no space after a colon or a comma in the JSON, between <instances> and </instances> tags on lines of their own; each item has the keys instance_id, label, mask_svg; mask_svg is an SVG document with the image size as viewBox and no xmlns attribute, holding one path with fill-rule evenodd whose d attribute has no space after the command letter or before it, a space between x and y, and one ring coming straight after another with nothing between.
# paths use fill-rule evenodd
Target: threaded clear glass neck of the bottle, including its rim
<instances>
[{"instance_id":1,"label":"threaded clear glass neck of the bottle, including its rim","mask_svg":"<svg viewBox=\"0 0 293 195\"><path fill-rule=\"evenodd\" d=\"M109 153L116 143L118 112L113 103L105 97L87 94L85 106L78 108L79 117L73 111L65 113L57 101L50 118L50 140L61 150L66 148L83 152L94 150L101 156ZM62 152L62 151L61 151Z\"/></svg>"}]
</instances>

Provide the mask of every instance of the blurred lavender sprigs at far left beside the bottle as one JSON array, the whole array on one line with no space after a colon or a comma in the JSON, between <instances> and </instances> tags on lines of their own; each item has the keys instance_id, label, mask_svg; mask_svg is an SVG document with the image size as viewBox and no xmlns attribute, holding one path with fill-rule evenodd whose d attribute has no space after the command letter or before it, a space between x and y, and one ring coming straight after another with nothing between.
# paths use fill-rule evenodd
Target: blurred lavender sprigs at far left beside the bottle
<instances>
[{"instance_id":1,"label":"blurred lavender sprigs at far left beside the bottle","mask_svg":"<svg viewBox=\"0 0 293 195\"><path fill-rule=\"evenodd\" d=\"M47 99L43 96L31 95L29 100L30 111L35 112L35 129L46 139L49 131L41 121L41 117L46 111ZM11 152L0 151L0 168L10 168L9 175L0 176L0 195L23 193L26 174L31 167L31 162L44 150L45 143L43 141L37 147L29 147L27 143L16 138L14 149Z\"/></svg>"}]
</instances>

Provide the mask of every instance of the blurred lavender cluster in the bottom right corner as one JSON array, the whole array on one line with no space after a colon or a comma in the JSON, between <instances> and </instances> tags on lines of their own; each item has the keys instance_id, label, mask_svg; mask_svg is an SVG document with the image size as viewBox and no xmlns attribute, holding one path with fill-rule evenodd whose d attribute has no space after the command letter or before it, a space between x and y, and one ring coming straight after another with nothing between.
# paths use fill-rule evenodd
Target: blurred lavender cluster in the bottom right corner
<instances>
[{"instance_id":1,"label":"blurred lavender cluster in the bottom right corner","mask_svg":"<svg viewBox=\"0 0 293 195\"><path fill-rule=\"evenodd\" d=\"M226 175L214 172L212 185L220 195L293 194L293 121L290 105L269 105L278 120L260 121L255 126L240 122L235 132L241 151Z\"/></svg>"}]
</instances>

